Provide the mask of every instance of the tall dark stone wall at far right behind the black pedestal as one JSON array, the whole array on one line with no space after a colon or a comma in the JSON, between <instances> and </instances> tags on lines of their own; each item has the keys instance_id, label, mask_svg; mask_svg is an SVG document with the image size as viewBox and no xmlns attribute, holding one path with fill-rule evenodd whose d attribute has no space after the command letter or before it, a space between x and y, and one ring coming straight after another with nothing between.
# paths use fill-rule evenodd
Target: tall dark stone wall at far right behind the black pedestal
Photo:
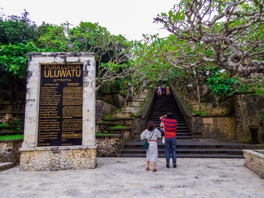
<instances>
[{"instance_id":1,"label":"tall dark stone wall at far right behind the black pedestal","mask_svg":"<svg viewBox=\"0 0 264 198\"><path fill-rule=\"evenodd\" d=\"M233 101L233 102L232 102ZM259 142L264 142L264 127L260 115L264 114L264 96L252 93L237 94L232 98L220 102L222 107L232 107L232 112L237 115L237 141L251 142L251 131L248 125L260 125L258 130Z\"/></svg>"}]
</instances>

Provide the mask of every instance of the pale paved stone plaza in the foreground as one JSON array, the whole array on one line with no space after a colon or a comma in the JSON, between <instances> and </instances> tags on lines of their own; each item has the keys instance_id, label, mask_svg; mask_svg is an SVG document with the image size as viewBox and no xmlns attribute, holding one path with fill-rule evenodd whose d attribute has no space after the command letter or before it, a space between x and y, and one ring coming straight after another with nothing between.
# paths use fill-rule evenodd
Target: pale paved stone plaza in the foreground
<instances>
[{"instance_id":1,"label":"pale paved stone plaza in the foreground","mask_svg":"<svg viewBox=\"0 0 264 198\"><path fill-rule=\"evenodd\" d=\"M159 158L158 171L145 158L97 158L90 170L0 172L0 197L264 197L264 180L244 159L178 158L176 169Z\"/></svg>"}]
</instances>

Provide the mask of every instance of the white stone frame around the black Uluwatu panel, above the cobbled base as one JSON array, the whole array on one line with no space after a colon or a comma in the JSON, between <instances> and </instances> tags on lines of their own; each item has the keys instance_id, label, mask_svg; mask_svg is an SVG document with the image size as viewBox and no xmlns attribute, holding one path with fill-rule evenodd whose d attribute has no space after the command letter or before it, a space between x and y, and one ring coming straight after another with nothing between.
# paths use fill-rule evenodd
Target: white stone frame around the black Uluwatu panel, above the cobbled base
<instances>
[{"instance_id":1,"label":"white stone frame around the black Uluwatu panel, above the cobbled base","mask_svg":"<svg viewBox=\"0 0 264 198\"><path fill-rule=\"evenodd\" d=\"M59 146L59 149L96 148L95 139L95 53L28 53L24 142L21 151L37 147L41 64L83 63L83 136L82 146ZM31 149L30 149L31 148ZM48 147L43 148L45 150ZM40 147L33 150L41 150Z\"/></svg>"}]
</instances>

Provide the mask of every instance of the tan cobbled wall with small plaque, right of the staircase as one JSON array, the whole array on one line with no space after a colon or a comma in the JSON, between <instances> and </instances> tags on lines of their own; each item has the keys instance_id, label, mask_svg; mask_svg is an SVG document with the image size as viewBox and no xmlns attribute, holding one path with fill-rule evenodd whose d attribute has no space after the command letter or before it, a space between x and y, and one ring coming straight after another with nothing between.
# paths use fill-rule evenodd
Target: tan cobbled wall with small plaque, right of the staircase
<instances>
[{"instance_id":1,"label":"tan cobbled wall with small plaque, right of the staircase","mask_svg":"<svg viewBox=\"0 0 264 198\"><path fill-rule=\"evenodd\" d=\"M235 141L235 117L210 118L213 119L213 124L202 125L204 139Z\"/></svg>"}]
</instances>

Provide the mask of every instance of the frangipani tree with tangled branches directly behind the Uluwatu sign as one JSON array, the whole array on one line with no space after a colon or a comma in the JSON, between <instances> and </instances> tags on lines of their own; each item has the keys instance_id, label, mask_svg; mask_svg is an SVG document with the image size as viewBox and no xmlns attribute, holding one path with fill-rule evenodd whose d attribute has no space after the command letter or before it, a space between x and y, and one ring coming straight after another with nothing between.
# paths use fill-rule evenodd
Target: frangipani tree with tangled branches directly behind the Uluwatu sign
<instances>
[{"instance_id":1,"label":"frangipani tree with tangled branches directly behind the Uluwatu sign","mask_svg":"<svg viewBox=\"0 0 264 198\"><path fill-rule=\"evenodd\" d=\"M105 27L98 23L81 22L72 27L68 22L52 25L48 28L40 42L47 48L57 51L94 52L97 58L96 92L106 82L122 79L138 70L142 65L129 64L134 57L134 42L122 35L111 35Z\"/></svg>"}]
</instances>

